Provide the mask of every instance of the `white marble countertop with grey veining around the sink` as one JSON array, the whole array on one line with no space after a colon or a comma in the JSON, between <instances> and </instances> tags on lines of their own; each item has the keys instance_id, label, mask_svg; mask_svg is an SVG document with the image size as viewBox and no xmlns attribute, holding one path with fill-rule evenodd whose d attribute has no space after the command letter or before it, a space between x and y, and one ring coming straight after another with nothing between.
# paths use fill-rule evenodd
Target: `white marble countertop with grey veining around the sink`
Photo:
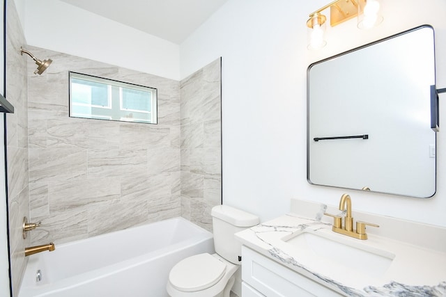
<instances>
[{"instance_id":1,"label":"white marble countertop with grey veining around the sink","mask_svg":"<svg viewBox=\"0 0 446 297\"><path fill-rule=\"evenodd\" d=\"M369 239L353 239L332 232L332 224L321 214L323 211L314 218L286 214L238 232L236 238L248 248L346 296L446 296L446 250L371 234L369 229ZM342 262L349 259L322 261L310 250L299 250L286 242L302 232L364 250L384 251L392 257L392 264L383 273L369 273L346 268Z\"/></svg>"}]
</instances>

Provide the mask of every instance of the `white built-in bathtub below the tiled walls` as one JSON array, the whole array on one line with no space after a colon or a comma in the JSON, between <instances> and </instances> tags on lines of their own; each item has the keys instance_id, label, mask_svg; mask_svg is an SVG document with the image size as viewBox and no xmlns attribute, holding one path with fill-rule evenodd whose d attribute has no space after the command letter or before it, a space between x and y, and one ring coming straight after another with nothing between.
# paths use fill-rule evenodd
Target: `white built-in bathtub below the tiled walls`
<instances>
[{"instance_id":1,"label":"white built-in bathtub below the tiled walls","mask_svg":"<svg viewBox=\"0 0 446 297\"><path fill-rule=\"evenodd\" d=\"M184 218L56 244L29 256L18 296L168 296L170 269L201 252L214 252L213 235Z\"/></svg>"}]
</instances>

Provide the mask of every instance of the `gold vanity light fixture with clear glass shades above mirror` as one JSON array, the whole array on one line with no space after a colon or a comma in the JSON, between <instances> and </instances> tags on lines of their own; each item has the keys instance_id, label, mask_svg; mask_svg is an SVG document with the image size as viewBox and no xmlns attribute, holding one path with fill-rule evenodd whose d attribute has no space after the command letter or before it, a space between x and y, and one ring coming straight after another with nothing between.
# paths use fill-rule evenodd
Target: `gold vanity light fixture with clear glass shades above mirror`
<instances>
[{"instance_id":1,"label":"gold vanity light fixture with clear glass shades above mirror","mask_svg":"<svg viewBox=\"0 0 446 297\"><path fill-rule=\"evenodd\" d=\"M327 44L324 38L327 17L321 13L327 8L330 8L330 26L336 26L353 17L357 17L359 29L370 29L383 22L379 0L334 0L309 14L308 49L321 49Z\"/></svg>"}]
</instances>

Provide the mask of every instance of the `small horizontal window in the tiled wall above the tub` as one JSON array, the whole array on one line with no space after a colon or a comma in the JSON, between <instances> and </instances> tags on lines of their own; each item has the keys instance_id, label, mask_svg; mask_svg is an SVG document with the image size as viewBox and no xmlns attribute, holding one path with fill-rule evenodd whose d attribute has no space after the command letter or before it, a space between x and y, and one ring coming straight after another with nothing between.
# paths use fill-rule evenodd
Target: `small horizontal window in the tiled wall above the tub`
<instances>
[{"instance_id":1,"label":"small horizontal window in the tiled wall above the tub","mask_svg":"<svg viewBox=\"0 0 446 297\"><path fill-rule=\"evenodd\" d=\"M70 72L70 117L157 123L157 90Z\"/></svg>"}]
</instances>

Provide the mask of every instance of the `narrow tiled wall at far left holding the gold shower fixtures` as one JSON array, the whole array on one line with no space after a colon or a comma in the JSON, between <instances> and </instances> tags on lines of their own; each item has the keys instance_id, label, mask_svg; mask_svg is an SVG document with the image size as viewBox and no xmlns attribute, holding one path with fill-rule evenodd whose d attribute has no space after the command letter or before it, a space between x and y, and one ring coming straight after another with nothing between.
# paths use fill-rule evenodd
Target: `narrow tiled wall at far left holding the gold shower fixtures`
<instances>
[{"instance_id":1,"label":"narrow tiled wall at far left holding the gold shower fixtures","mask_svg":"<svg viewBox=\"0 0 446 297\"><path fill-rule=\"evenodd\" d=\"M6 162L8 163L8 214L11 275L13 294L17 296L26 267L24 248L30 239L23 239L23 217L29 216L28 191L28 102L26 61L20 55L25 38L14 1L6 5L6 98L15 107L6 115ZM3 113L0 114L3 120Z\"/></svg>"}]
</instances>

